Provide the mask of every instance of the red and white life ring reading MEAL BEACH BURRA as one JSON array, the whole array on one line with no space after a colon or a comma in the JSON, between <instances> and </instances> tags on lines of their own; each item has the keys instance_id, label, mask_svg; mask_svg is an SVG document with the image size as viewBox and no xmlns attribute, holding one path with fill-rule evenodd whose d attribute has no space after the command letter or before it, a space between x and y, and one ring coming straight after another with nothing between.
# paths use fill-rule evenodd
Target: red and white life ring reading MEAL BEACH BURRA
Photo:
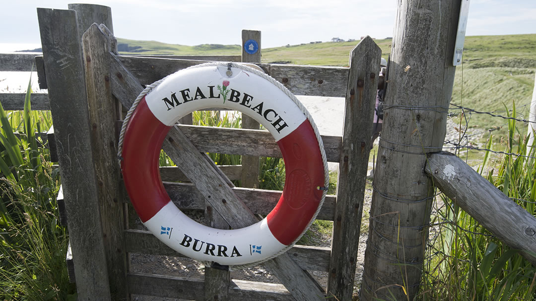
<instances>
[{"instance_id":1,"label":"red and white life ring reading MEAL BEACH BURRA","mask_svg":"<svg viewBox=\"0 0 536 301\"><path fill-rule=\"evenodd\" d=\"M152 234L185 256L220 265L265 261L303 235L323 203L329 176L318 130L294 95L270 76L231 63L193 66L146 90L125 119L120 156L131 203ZM190 112L213 107L256 119L276 139L285 161L285 188L276 207L241 229L191 220L171 202L160 178L159 153L171 126Z\"/></svg>"}]
</instances>

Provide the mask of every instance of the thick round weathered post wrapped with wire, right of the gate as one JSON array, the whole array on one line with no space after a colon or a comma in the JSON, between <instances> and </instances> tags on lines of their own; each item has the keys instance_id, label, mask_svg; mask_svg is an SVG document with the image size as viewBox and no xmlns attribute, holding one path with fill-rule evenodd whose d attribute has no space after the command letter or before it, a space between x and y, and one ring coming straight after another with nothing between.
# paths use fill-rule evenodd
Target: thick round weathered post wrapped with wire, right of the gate
<instances>
[{"instance_id":1,"label":"thick round weathered post wrapped with wire, right of the gate","mask_svg":"<svg viewBox=\"0 0 536 301\"><path fill-rule=\"evenodd\" d=\"M392 42L361 300L413 300L434 187L426 153L440 151L455 67L460 0L404 0Z\"/></svg>"}]
</instances>

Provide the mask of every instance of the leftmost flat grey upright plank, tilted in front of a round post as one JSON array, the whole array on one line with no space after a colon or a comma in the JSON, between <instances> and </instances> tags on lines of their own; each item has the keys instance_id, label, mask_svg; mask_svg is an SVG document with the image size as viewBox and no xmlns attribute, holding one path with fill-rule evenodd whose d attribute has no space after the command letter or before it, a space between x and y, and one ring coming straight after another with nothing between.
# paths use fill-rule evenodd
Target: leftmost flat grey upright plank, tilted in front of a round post
<instances>
[{"instance_id":1,"label":"leftmost flat grey upright plank, tilted in front of a round post","mask_svg":"<svg viewBox=\"0 0 536 301\"><path fill-rule=\"evenodd\" d=\"M109 300L76 12L38 8L38 20L78 298Z\"/></svg>"}]
</instances>

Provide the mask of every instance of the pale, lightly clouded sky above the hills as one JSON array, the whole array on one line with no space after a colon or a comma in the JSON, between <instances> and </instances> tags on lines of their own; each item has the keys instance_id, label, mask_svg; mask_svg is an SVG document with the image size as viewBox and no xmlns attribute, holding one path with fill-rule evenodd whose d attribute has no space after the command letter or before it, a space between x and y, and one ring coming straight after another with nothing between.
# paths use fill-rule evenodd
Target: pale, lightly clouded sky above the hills
<instances>
[{"instance_id":1,"label":"pale, lightly clouded sky above the hills","mask_svg":"<svg viewBox=\"0 0 536 301\"><path fill-rule=\"evenodd\" d=\"M0 51L39 47L36 7L68 3L111 7L116 37L172 44L240 44L262 32L262 48L393 35L399 0L0 0ZM429 0L424 0L429 1ZM435 0L434 0L435 1ZM470 0L466 35L536 33L536 0ZM27 45L13 45L22 44ZM20 50L10 49L8 51Z\"/></svg>"}]
</instances>

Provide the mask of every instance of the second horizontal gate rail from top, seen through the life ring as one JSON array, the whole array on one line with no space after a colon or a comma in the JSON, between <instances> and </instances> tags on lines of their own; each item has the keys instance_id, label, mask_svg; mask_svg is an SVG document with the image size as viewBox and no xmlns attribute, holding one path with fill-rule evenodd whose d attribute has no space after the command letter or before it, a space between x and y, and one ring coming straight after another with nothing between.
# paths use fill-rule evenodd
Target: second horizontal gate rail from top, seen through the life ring
<instances>
[{"instance_id":1,"label":"second horizontal gate rail from top, seen through the life ring","mask_svg":"<svg viewBox=\"0 0 536 301\"><path fill-rule=\"evenodd\" d=\"M220 127L184 126L178 128L202 152L219 152L281 158L281 151L267 130L244 130ZM324 149L329 162L340 160L342 137L324 136Z\"/></svg>"}]
</instances>

